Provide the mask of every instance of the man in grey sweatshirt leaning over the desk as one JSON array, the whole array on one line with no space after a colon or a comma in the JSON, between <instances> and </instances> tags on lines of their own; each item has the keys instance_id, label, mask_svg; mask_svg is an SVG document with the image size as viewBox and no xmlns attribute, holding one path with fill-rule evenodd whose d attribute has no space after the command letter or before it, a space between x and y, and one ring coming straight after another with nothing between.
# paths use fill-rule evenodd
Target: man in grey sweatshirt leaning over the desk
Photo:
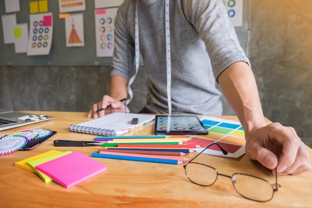
<instances>
[{"instance_id":1,"label":"man in grey sweatshirt leaning over the desk","mask_svg":"<svg viewBox=\"0 0 312 208\"><path fill-rule=\"evenodd\" d=\"M295 130L266 124L250 62L222 0L125 0L115 22L109 95L88 117L126 112L118 100L128 97L139 52L148 77L142 113L221 115L218 83L244 128L252 160L277 167L279 175L311 170L309 152Z\"/></svg>"}]
</instances>

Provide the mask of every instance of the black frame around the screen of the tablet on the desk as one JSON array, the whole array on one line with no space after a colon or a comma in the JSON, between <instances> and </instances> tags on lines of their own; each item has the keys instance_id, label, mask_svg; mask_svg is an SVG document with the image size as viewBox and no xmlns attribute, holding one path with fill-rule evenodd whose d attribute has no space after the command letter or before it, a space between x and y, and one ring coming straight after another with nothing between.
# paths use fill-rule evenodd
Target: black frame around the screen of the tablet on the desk
<instances>
[{"instance_id":1,"label":"black frame around the screen of the tablet on the desk","mask_svg":"<svg viewBox=\"0 0 312 208\"><path fill-rule=\"evenodd\" d=\"M192 131L186 131L186 130L157 130L158 128L158 120L161 117L169 117L168 115L156 115L155 116L155 127L154 127L154 133L155 134L159 134L159 135L163 135L163 134L171 134L171 135L186 135L186 134L190 134L190 135L206 135L208 134L208 130L205 128L205 126L201 123L200 119L198 118L198 116L195 115L171 115L170 117L192 117L192 118L196 118L196 120L198 121L198 123L201 125L201 130L192 130Z\"/></svg>"}]
</instances>

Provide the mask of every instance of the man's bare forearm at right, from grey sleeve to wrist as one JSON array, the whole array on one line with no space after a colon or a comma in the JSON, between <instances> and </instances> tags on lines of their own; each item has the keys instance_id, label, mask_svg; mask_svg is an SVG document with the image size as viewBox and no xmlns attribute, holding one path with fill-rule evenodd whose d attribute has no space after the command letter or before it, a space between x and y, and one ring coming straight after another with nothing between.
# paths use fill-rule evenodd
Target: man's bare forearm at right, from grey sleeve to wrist
<instances>
[{"instance_id":1,"label":"man's bare forearm at right, from grey sleeve to wrist","mask_svg":"<svg viewBox=\"0 0 312 208\"><path fill-rule=\"evenodd\" d=\"M255 77L247 63L230 65L219 75L218 81L247 135L266 125Z\"/></svg>"}]
</instances>

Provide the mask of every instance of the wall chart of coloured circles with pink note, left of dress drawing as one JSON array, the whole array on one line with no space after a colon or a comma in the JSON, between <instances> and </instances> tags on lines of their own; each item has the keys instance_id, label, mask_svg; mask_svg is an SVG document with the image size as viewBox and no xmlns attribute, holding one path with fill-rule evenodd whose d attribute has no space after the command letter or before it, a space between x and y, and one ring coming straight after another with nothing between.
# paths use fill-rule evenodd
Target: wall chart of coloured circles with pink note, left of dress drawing
<instances>
[{"instance_id":1,"label":"wall chart of coloured circles with pink note, left of dress drawing","mask_svg":"<svg viewBox=\"0 0 312 208\"><path fill-rule=\"evenodd\" d=\"M30 14L30 29L27 55L50 53L53 34L53 15L49 13Z\"/></svg>"}]
</instances>

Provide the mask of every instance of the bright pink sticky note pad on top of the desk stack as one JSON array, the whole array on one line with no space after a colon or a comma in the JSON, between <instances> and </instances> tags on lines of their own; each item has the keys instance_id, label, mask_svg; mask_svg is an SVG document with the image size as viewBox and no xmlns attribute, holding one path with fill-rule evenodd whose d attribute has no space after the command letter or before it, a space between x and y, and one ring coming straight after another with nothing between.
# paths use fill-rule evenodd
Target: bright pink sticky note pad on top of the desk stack
<instances>
[{"instance_id":1,"label":"bright pink sticky note pad on top of the desk stack","mask_svg":"<svg viewBox=\"0 0 312 208\"><path fill-rule=\"evenodd\" d=\"M36 170L65 188L75 186L106 169L105 165L79 152L73 152L36 166Z\"/></svg>"}]
</instances>

